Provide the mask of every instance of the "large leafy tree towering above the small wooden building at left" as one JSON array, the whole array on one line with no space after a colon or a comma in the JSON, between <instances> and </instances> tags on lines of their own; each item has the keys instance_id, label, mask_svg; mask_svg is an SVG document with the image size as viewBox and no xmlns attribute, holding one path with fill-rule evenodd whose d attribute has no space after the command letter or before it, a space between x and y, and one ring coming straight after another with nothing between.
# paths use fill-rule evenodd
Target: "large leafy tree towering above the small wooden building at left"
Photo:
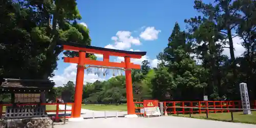
<instances>
[{"instance_id":1,"label":"large leafy tree towering above the small wooden building at left","mask_svg":"<svg viewBox=\"0 0 256 128\"><path fill-rule=\"evenodd\" d=\"M48 79L54 75L63 42L91 44L89 30L77 23L81 16L75 0L8 0L1 1L1 5L0 54L5 57L0 62L0 75L3 78Z\"/></svg>"}]
</instances>

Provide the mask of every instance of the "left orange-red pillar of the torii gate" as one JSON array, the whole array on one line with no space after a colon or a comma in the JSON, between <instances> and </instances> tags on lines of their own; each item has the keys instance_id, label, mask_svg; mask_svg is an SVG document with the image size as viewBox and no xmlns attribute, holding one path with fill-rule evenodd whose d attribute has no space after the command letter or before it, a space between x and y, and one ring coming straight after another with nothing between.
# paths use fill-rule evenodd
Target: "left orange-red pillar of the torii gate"
<instances>
[{"instance_id":1,"label":"left orange-red pillar of the torii gate","mask_svg":"<svg viewBox=\"0 0 256 128\"><path fill-rule=\"evenodd\" d=\"M73 118L80 118L82 106L82 89L84 77L84 62L86 60L86 52L79 52L79 59L76 73L76 87L75 87L75 103Z\"/></svg>"}]
</instances>

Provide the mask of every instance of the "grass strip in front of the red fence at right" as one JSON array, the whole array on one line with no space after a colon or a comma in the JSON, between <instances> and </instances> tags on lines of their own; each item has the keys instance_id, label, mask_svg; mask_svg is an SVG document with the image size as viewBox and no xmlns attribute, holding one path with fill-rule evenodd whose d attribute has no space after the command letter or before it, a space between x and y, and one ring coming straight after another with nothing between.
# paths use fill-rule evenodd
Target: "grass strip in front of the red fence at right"
<instances>
[{"instance_id":1,"label":"grass strip in front of the red fence at right","mask_svg":"<svg viewBox=\"0 0 256 128\"><path fill-rule=\"evenodd\" d=\"M173 116L189 117L189 114L179 114L179 115L173 115ZM207 119L205 113L191 114L191 117ZM208 119L256 124L256 111L252 111L251 115L245 115L245 114L243 114L243 112L234 112L233 113L233 121L231 121L231 113L210 113L210 114L208 114Z\"/></svg>"}]
</instances>

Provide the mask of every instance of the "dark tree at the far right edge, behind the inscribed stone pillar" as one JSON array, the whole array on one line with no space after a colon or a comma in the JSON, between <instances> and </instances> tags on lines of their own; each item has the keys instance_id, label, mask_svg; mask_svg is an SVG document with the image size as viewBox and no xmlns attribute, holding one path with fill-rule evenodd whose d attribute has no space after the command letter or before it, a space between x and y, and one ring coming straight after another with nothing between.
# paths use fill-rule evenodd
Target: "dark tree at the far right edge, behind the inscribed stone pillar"
<instances>
[{"instance_id":1,"label":"dark tree at the far right edge, behind the inscribed stone pillar","mask_svg":"<svg viewBox=\"0 0 256 128\"><path fill-rule=\"evenodd\" d=\"M238 71L240 72L240 81L246 82L250 99L256 97L255 86L255 67L256 67L256 2L255 1L235 1L234 7L240 10L241 18L239 19L238 28L236 30L239 37L243 40L242 45L246 49L244 57L240 57L237 62L240 65Z\"/></svg>"}]
</instances>

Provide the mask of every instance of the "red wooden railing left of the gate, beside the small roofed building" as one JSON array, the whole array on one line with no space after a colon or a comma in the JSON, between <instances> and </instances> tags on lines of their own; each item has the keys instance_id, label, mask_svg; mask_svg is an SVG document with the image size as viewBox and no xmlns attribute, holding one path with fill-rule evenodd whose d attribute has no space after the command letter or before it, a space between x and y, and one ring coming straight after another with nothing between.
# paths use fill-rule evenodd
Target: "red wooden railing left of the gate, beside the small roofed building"
<instances>
[{"instance_id":1,"label":"red wooden railing left of the gate, beside the small roofed building","mask_svg":"<svg viewBox=\"0 0 256 128\"><path fill-rule=\"evenodd\" d=\"M33 106L33 105L38 105L38 104L16 104L16 106ZM54 117L54 120L55 121L59 121L59 119L60 118L70 118L71 116L66 116L66 112L70 112L70 111L72 111L72 110L60 110L59 109L59 105L65 105L65 106L67 106L67 105L71 105L72 107L73 107L73 103L41 103L40 104L41 106L46 106L46 108L47 108L47 106L56 106L56 109L55 110L46 110L45 112L56 112L56 114L55 114L55 117ZM2 118L2 116L5 114L5 112L3 112L3 109L4 109L4 107L6 107L6 106L12 106L12 104L0 104L0 118ZM59 116L59 112L65 112L65 116Z\"/></svg>"}]
</instances>

